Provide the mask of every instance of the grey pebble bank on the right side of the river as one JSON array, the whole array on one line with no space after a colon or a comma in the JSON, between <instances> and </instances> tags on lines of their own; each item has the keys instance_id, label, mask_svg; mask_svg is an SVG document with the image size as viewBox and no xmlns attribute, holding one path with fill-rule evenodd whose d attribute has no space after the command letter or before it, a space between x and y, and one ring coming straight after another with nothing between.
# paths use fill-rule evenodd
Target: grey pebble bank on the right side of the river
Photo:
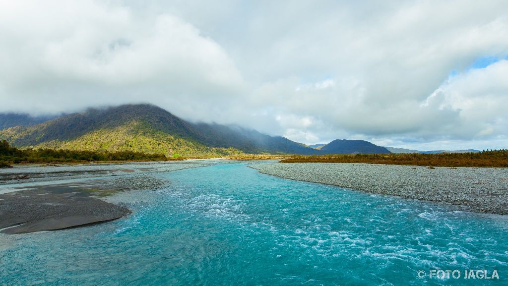
<instances>
[{"instance_id":1,"label":"grey pebble bank on the right side of the river","mask_svg":"<svg viewBox=\"0 0 508 286\"><path fill-rule=\"evenodd\" d=\"M507 168L447 168L357 163L268 163L249 167L277 177L508 214Z\"/></svg>"}]
</instances>

